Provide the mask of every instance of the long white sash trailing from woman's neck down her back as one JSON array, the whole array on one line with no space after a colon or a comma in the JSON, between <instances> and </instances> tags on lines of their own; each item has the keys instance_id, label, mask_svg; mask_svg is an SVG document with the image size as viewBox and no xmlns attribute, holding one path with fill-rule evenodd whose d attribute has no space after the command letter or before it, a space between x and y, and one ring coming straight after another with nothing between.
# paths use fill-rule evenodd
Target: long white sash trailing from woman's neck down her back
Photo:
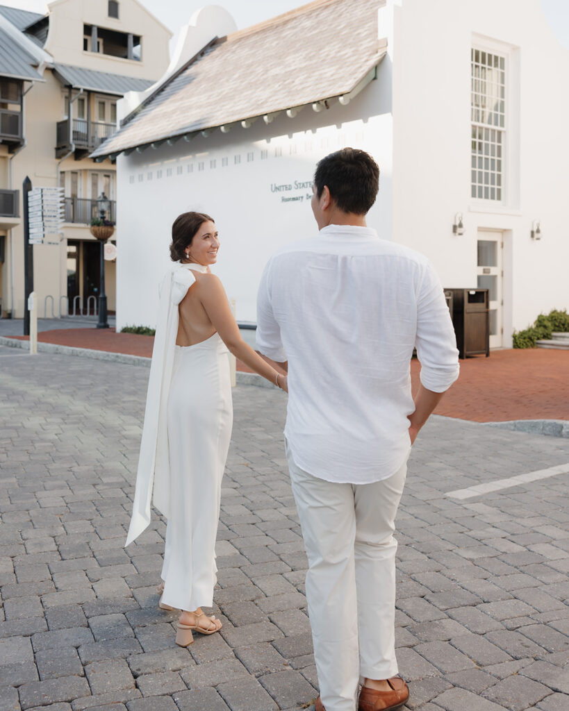
<instances>
[{"instance_id":1,"label":"long white sash trailing from woman's neck down her back","mask_svg":"<svg viewBox=\"0 0 569 711\"><path fill-rule=\"evenodd\" d=\"M125 546L147 528L150 523L150 502L154 490L154 506L166 518L170 514L170 466L166 407L174 363L174 346L178 335L178 304L196 281L191 269L206 272L201 264L174 262L160 285L158 318L150 377L147 407L140 442L137 483L129 533Z\"/></svg>"}]
</instances>

